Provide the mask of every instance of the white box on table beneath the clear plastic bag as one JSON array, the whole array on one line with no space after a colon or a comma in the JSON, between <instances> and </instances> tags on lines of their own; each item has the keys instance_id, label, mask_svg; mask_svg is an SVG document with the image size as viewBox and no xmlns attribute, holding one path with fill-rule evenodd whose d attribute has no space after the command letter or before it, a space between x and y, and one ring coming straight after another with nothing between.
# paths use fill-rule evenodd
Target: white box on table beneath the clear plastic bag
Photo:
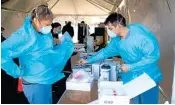
<instances>
[{"instance_id":1,"label":"white box on table beneath the clear plastic bag","mask_svg":"<svg viewBox=\"0 0 175 105\"><path fill-rule=\"evenodd\" d=\"M70 75L66 81L66 90L91 91L94 84L94 78L91 78L89 82L72 82L70 81L71 78L72 75Z\"/></svg>"}]
</instances>

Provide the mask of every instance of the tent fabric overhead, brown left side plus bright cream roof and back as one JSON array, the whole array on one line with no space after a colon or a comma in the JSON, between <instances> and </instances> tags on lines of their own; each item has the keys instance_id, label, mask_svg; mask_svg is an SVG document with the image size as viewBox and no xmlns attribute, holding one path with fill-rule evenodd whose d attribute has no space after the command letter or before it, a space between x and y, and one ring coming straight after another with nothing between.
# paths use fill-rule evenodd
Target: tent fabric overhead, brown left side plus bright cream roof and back
<instances>
[{"instance_id":1,"label":"tent fabric overhead, brown left side plus bright cream roof and back","mask_svg":"<svg viewBox=\"0 0 175 105\"><path fill-rule=\"evenodd\" d=\"M76 25L78 22L84 20L89 24L93 22L93 24L96 24L97 22L102 22L104 17L118 6L121 1L122 0L8 0L2 4L1 25L5 28L5 37L8 37L23 24L25 17L30 14L35 7L41 4L47 4L49 6L54 13L54 21L63 23L64 21L70 20Z\"/></svg>"}]
</instances>

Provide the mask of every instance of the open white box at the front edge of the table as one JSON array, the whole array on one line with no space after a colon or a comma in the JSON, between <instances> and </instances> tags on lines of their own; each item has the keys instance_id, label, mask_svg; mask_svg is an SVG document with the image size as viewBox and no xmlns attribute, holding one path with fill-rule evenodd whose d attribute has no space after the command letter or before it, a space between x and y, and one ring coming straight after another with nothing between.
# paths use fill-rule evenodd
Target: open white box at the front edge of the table
<instances>
[{"instance_id":1,"label":"open white box at the front edge of the table","mask_svg":"<svg viewBox=\"0 0 175 105\"><path fill-rule=\"evenodd\" d=\"M129 104L123 83L120 81L98 81L98 103L99 104Z\"/></svg>"}]
</instances>

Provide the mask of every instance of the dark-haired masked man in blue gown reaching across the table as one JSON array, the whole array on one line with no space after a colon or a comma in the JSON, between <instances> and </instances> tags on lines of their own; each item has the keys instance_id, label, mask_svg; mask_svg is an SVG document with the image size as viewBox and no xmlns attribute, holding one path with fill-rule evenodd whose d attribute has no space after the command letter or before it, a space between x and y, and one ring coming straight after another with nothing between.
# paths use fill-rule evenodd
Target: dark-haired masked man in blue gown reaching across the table
<instances>
[{"instance_id":1,"label":"dark-haired masked man in blue gown reaching across the table","mask_svg":"<svg viewBox=\"0 0 175 105\"><path fill-rule=\"evenodd\" d=\"M94 63L120 55L124 61L124 64L121 65L124 84L144 72L157 83L156 87L133 98L132 103L157 104L158 86L162 80L162 73L157 64L160 51L155 35L141 24L126 25L125 18L118 13L110 14L105 24L108 27L107 33L111 37L110 43L88 60L81 59L80 63Z\"/></svg>"}]
</instances>

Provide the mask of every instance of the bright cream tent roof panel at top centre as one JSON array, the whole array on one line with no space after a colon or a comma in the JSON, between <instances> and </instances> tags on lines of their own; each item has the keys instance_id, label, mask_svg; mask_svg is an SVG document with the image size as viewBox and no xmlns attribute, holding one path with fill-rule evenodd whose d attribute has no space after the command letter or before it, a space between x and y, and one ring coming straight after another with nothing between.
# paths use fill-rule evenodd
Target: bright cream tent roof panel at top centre
<instances>
[{"instance_id":1,"label":"bright cream tent roof panel at top centre","mask_svg":"<svg viewBox=\"0 0 175 105\"><path fill-rule=\"evenodd\" d=\"M58 15L108 15L110 12L100 9L86 0L60 0L52 8L52 11Z\"/></svg>"}]
</instances>

